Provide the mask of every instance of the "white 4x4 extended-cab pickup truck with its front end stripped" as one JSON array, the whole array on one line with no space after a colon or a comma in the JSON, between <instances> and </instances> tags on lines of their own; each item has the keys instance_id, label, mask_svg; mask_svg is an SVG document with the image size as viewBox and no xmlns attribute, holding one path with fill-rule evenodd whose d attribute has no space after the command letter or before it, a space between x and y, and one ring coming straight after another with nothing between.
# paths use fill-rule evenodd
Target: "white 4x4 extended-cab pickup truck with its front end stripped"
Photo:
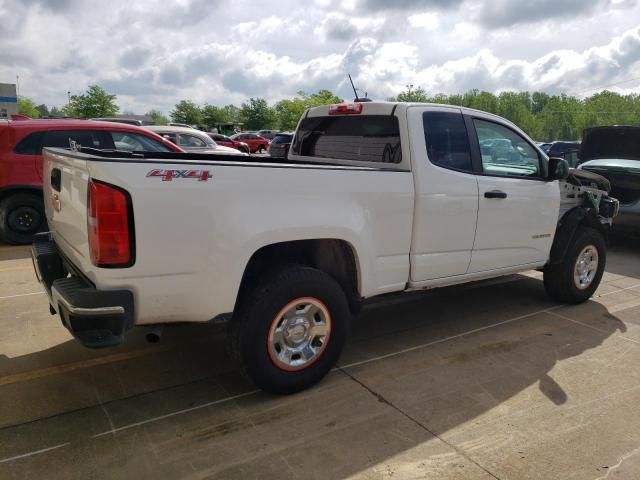
<instances>
[{"instance_id":1,"label":"white 4x4 extended-cab pickup truck with its front end stripped","mask_svg":"<svg viewBox=\"0 0 640 480\"><path fill-rule=\"evenodd\" d=\"M227 319L279 393L321 379L377 295L542 269L552 298L586 301L618 209L512 123L430 104L312 108L279 163L47 149L44 178L34 265L80 342Z\"/></svg>"}]
</instances>

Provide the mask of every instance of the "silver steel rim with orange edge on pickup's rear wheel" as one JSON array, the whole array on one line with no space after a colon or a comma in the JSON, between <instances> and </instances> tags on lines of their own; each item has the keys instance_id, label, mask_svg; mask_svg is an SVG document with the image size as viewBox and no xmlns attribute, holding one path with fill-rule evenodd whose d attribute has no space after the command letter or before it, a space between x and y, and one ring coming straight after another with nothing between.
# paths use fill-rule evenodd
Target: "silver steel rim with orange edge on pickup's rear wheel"
<instances>
[{"instance_id":1,"label":"silver steel rim with orange edge on pickup's rear wheel","mask_svg":"<svg viewBox=\"0 0 640 480\"><path fill-rule=\"evenodd\" d=\"M274 317L267 337L269 357L281 370L303 370L324 353L331 335L329 309L317 298L297 298Z\"/></svg>"}]
</instances>

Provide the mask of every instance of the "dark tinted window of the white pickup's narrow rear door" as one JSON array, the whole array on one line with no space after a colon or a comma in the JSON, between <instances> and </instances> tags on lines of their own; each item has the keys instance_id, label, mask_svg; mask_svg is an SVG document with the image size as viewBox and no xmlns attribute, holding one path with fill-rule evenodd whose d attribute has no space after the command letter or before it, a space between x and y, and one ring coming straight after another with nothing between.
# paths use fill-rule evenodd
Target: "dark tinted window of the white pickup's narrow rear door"
<instances>
[{"instance_id":1,"label":"dark tinted window of the white pickup's narrow rear door","mask_svg":"<svg viewBox=\"0 0 640 480\"><path fill-rule=\"evenodd\" d=\"M431 163L451 170L472 171L469 135L461 113L425 112L422 124Z\"/></svg>"}]
</instances>

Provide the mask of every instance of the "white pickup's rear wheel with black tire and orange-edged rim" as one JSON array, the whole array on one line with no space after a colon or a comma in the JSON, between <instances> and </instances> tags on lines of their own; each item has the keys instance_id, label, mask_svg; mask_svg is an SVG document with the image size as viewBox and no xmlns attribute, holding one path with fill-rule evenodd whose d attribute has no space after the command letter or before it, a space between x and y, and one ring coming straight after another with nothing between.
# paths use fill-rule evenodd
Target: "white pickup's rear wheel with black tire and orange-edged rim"
<instances>
[{"instance_id":1,"label":"white pickup's rear wheel with black tire and orange-edged rim","mask_svg":"<svg viewBox=\"0 0 640 480\"><path fill-rule=\"evenodd\" d=\"M232 353L262 390L305 390L335 364L349 330L340 285L323 271L291 266L244 297L229 328Z\"/></svg>"}]
</instances>

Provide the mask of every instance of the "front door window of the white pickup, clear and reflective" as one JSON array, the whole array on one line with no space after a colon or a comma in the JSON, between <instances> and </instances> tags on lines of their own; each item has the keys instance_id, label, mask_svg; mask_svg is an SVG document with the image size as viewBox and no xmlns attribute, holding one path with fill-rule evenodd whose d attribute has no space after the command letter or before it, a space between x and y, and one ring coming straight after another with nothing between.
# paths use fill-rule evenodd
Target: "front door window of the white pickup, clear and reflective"
<instances>
[{"instance_id":1,"label":"front door window of the white pickup, clear and reflective","mask_svg":"<svg viewBox=\"0 0 640 480\"><path fill-rule=\"evenodd\" d=\"M540 178L540 155L522 136L498 123L474 119L482 156L482 173L501 177Z\"/></svg>"}]
</instances>

